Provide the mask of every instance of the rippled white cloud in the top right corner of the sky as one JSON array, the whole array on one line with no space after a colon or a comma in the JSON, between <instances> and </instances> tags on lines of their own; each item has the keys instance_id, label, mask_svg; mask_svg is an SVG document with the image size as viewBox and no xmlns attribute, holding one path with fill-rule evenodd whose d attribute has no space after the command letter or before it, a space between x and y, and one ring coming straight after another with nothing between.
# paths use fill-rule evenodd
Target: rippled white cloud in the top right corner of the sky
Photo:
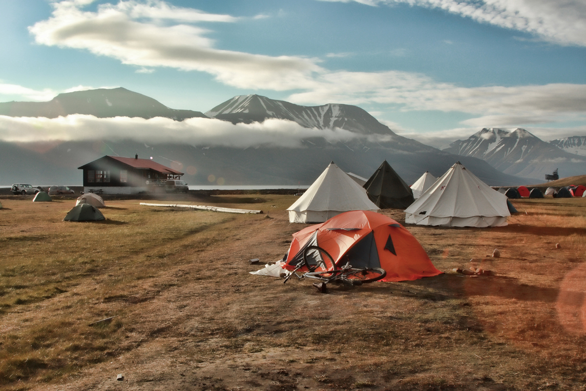
<instances>
[{"instance_id":1,"label":"rippled white cloud in the top right corner of the sky","mask_svg":"<svg viewBox=\"0 0 586 391\"><path fill-rule=\"evenodd\" d=\"M327 0L336 1L336 0ZM349 0L339 0L349 2ZM586 46L584 0L355 0L361 4L408 4L439 8L477 22L539 36L560 45Z\"/></svg>"}]
</instances>

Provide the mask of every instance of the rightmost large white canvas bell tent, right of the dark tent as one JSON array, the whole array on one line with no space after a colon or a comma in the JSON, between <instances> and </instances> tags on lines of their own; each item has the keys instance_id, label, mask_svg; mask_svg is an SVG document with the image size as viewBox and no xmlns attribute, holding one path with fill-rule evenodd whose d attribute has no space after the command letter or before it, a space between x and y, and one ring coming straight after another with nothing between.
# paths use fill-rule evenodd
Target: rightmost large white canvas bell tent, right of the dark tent
<instances>
[{"instance_id":1,"label":"rightmost large white canvas bell tent, right of the dark tent","mask_svg":"<svg viewBox=\"0 0 586 391\"><path fill-rule=\"evenodd\" d=\"M507 225L507 197L476 178L460 162L405 210L405 222L452 227Z\"/></svg>"}]
</instances>

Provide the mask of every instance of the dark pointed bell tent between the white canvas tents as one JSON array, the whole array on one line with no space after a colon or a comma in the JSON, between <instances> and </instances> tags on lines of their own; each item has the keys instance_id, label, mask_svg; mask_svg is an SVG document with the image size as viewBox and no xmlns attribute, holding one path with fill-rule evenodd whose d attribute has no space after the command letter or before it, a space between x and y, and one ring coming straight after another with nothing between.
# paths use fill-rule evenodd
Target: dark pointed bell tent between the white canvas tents
<instances>
[{"instance_id":1,"label":"dark pointed bell tent between the white canvas tents","mask_svg":"<svg viewBox=\"0 0 586 391\"><path fill-rule=\"evenodd\" d=\"M385 160L364 183L370 200L381 209L407 208L413 203L413 191Z\"/></svg>"}]
</instances>

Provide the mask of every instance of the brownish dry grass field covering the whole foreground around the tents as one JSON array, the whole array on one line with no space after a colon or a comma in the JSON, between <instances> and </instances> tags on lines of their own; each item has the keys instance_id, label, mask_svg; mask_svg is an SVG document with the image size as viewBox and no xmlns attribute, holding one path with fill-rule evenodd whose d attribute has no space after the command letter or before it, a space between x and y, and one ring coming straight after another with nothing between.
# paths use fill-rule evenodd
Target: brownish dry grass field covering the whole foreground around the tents
<instances>
[{"instance_id":1,"label":"brownish dry grass field covering the whole foreground around the tents","mask_svg":"<svg viewBox=\"0 0 586 391\"><path fill-rule=\"evenodd\" d=\"M65 202L3 200L0 384L116 389L124 373L147 390L584 389L586 199L513 200L523 213L495 229L408 227L441 270L496 277L323 295L247 273L302 227L284 210L294 197L261 197L271 218L124 201L98 224L61 222Z\"/></svg>"}]
</instances>

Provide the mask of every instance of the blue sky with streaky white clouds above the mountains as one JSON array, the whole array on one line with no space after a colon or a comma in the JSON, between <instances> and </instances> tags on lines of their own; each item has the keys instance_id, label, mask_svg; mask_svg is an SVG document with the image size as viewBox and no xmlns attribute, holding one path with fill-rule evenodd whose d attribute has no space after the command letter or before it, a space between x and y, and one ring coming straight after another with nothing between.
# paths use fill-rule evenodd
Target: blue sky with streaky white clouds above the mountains
<instances>
[{"instance_id":1,"label":"blue sky with streaky white clouds above the mountains","mask_svg":"<svg viewBox=\"0 0 586 391\"><path fill-rule=\"evenodd\" d=\"M0 102L124 87L205 113L259 94L353 104L434 147L484 127L586 135L584 0L0 0L0 10ZM0 140L113 124L82 119L39 131L40 120L0 116ZM128 121L105 134L131 132ZM182 132L206 128L193 123Z\"/></svg>"}]
</instances>

